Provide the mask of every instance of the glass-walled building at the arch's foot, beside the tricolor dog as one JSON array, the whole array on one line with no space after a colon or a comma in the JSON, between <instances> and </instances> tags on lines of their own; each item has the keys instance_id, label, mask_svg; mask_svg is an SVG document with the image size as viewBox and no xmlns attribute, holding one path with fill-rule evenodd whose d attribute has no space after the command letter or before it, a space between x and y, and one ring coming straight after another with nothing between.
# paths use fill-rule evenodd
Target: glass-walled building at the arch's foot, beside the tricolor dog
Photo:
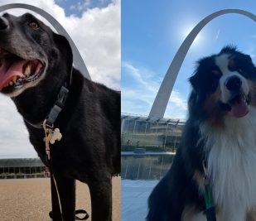
<instances>
[{"instance_id":1,"label":"glass-walled building at the arch's foot, beside the tricolor dog","mask_svg":"<svg viewBox=\"0 0 256 221\"><path fill-rule=\"evenodd\" d=\"M122 114L122 151L176 151L184 119L148 118Z\"/></svg>"}]
</instances>

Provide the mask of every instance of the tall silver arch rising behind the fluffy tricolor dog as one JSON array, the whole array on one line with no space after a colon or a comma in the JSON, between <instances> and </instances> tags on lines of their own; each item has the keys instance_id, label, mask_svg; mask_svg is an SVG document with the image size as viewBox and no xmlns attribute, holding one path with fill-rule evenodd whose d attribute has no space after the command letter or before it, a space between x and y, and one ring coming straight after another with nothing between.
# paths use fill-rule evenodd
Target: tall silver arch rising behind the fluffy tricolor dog
<instances>
[{"instance_id":1,"label":"tall silver arch rising behind the fluffy tricolor dog","mask_svg":"<svg viewBox=\"0 0 256 221\"><path fill-rule=\"evenodd\" d=\"M176 77L179 73L179 70L181 69L181 65L183 60L185 59L187 51L190 49L192 42L195 40L197 34L201 31L201 29L211 20L213 20L215 17L219 17L224 14L240 14L244 15L246 17L251 18L256 22L256 16L253 13L240 10L240 9L224 9L220 10L218 12L214 12L210 14L209 16L202 19L189 33L188 36L186 36L186 39L181 44L180 48L176 52L176 55L174 56L173 60L171 61L171 65L169 66L169 69L167 70L167 74L165 75L162 84L160 86L160 89L158 90L157 97L154 100L154 103L152 105L151 111L149 113L148 117L158 117L163 118L164 113L167 109L167 103L169 101L169 98L171 96L171 90L173 89L173 85L176 81Z\"/></svg>"}]
</instances>

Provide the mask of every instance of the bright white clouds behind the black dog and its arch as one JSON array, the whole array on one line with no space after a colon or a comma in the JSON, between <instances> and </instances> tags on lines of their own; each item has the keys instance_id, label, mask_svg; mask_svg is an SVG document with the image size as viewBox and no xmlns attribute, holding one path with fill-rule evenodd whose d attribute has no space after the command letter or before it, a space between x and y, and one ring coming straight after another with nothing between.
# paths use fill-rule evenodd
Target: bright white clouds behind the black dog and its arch
<instances>
[{"instance_id":1,"label":"bright white clouds behind the black dog and its arch","mask_svg":"<svg viewBox=\"0 0 256 221\"><path fill-rule=\"evenodd\" d=\"M51 13L75 41L91 78L110 88L120 89L120 0L113 0L108 7L87 9L81 17L65 16L64 9L54 0L0 0L0 5L12 2L31 4ZM27 10L12 9L8 12L21 15ZM36 156L28 142L22 117L10 98L0 96L0 116L0 158Z\"/></svg>"}]
</instances>

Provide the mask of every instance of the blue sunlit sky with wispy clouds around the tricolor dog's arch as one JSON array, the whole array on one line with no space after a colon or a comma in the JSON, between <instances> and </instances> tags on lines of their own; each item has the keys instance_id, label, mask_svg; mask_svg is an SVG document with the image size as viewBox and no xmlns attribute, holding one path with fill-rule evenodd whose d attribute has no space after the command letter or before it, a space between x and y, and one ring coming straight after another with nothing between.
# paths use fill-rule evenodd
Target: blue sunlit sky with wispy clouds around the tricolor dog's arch
<instances>
[{"instance_id":1,"label":"blue sunlit sky with wispy clouds around the tricolor dog's arch","mask_svg":"<svg viewBox=\"0 0 256 221\"><path fill-rule=\"evenodd\" d=\"M147 115L171 60L182 41L201 19L225 8L256 14L254 1L146 1L122 2L122 113ZM193 42L176 79L165 117L186 118L187 79L196 60L235 45L256 64L256 23L238 14L226 14L206 25Z\"/></svg>"}]
</instances>

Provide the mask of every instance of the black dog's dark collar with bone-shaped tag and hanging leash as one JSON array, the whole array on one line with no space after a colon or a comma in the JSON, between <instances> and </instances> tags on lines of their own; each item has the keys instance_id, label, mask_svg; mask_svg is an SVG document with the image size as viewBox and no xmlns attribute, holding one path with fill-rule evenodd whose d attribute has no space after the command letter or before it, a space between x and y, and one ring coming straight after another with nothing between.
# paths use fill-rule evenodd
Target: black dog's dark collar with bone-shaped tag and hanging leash
<instances>
[{"instance_id":1,"label":"black dog's dark collar with bone-shaped tag and hanging leash","mask_svg":"<svg viewBox=\"0 0 256 221\"><path fill-rule=\"evenodd\" d=\"M72 74L72 69L71 69ZM71 84L71 80L69 82ZM46 161L49 164L50 174L51 174L51 207L52 210L49 213L49 216L54 221L62 220L62 214L61 214L61 206L60 206L60 197L58 193L58 188L56 185L56 180L54 178L54 172L51 168L51 149L50 149L50 143L54 144L56 141L60 141L62 135L60 133L59 128L54 128L54 123L56 122L56 118L58 117L59 113L61 112L62 108L65 106L65 101L68 97L69 89L67 88L67 85L65 83L65 86L61 86L60 92L57 96L56 103L54 104L53 108L51 108L51 111L49 115L46 117L44 121L41 123L30 123L26 119L25 121L31 125L32 127L35 127L37 129L43 129L45 132L45 138L44 142L46 144ZM85 214L83 218L78 217L78 214ZM84 209L77 209L75 210L75 219L76 220L85 220L89 218L89 214Z\"/></svg>"}]
</instances>

